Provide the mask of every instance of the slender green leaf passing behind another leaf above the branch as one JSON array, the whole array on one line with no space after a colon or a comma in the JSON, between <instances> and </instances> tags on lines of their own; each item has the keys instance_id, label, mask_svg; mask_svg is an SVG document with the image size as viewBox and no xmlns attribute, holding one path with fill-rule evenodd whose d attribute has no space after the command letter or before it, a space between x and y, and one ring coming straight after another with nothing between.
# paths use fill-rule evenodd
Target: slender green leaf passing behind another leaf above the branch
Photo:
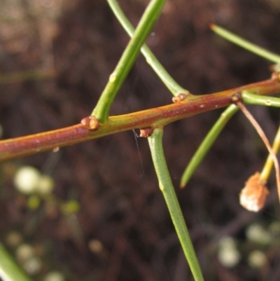
<instances>
[{"instance_id":1,"label":"slender green leaf passing behind another leaf above the branch","mask_svg":"<svg viewBox=\"0 0 280 281\"><path fill-rule=\"evenodd\" d=\"M120 24L123 26L127 34L132 37L134 35L134 28L132 27L130 21L127 20L125 14L118 5L118 2L116 0L108 0L108 2ZM144 57L146 57L146 61L148 62L148 64L151 65L152 69L155 71L156 74L158 74L162 82L165 83L165 85L170 90L170 92L172 92L173 95L177 95L181 92L185 94L188 93L188 90L182 88L181 85L174 81L172 76L170 76L169 73L165 70L165 68L162 67L162 64L160 64L158 59L155 57L155 55L153 55L153 53L148 48L148 46L146 46L146 44L141 47L141 53L144 55Z\"/></svg>"}]
</instances>

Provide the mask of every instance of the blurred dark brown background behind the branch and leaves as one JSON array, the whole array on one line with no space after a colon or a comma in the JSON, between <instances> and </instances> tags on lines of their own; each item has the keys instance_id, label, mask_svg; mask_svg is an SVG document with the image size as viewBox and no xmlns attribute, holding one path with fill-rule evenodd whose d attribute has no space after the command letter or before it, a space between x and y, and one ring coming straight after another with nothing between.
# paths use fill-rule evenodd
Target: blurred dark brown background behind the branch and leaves
<instances>
[{"instance_id":1,"label":"blurred dark brown background behind the branch and leaves","mask_svg":"<svg viewBox=\"0 0 280 281\"><path fill-rule=\"evenodd\" d=\"M0 1L0 123L2 138L18 137L79 123L88 116L128 42L104 0ZM137 25L146 0L121 0ZM279 53L278 0L168 1L151 47L167 71L194 94L216 92L269 78L269 62L216 36L216 23ZM34 71L18 74L19 71ZM33 76L31 79L30 76ZM34 78L35 77L35 78ZM141 55L120 90L111 115L171 103L172 96ZM279 111L248 107L270 140ZM255 222L268 229L279 220L274 178L265 210L253 214L239 205L244 181L261 170L267 151L242 114L222 132L186 189L181 174L221 111L168 125L165 153L206 280L279 280L279 238L260 247L267 262L248 264L259 249L246 238ZM42 280L60 270L65 280L193 280L174 234L151 163L146 139L124 132L1 164L0 231L5 241L17 231L43 249ZM139 154L141 158L139 157ZM13 174L32 165L55 180L60 200L78 200L69 222L36 211L15 191ZM241 259L228 268L217 258L223 236L237 239ZM9 248L10 252L13 249Z\"/></svg>"}]
</instances>

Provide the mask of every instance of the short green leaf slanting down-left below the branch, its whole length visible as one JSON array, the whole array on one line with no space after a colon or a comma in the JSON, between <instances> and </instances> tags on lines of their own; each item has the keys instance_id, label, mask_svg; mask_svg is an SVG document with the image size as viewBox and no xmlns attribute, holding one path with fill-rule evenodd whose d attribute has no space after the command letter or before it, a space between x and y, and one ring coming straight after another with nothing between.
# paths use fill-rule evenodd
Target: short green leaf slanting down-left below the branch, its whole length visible
<instances>
[{"instance_id":1,"label":"short green leaf slanting down-left below the branch, its whole length visible","mask_svg":"<svg viewBox=\"0 0 280 281\"><path fill-rule=\"evenodd\" d=\"M218 118L218 121L216 121L207 136L204 138L203 142L200 144L200 147L197 151L195 151L195 155L190 160L190 163L188 163L186 170L183 172L180 183L181 189L186 186L190 177L193 176L193 173L197 170L197 167L200 165L209 149L211 149L211 146L216 141L218 135L220 135L225 125L237 111L238 107L235 104L231 104L227 109L225 109L225 111L223 111L220 118Z\"/></svg>"}]
</instances>

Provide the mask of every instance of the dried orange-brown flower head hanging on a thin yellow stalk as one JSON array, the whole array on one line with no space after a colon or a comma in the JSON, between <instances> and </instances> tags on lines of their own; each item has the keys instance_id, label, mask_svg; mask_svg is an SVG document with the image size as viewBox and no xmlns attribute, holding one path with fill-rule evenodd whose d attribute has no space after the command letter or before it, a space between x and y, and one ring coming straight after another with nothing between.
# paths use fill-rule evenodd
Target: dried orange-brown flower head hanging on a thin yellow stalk
<instances>
[{"instance_id":1,"label":"dried orange-brown flower head hanging on a thin yellow stalk","mask_svg":"<svg viewBox=\"0 0 280 281\"><path fill-rule=\"evenodd\" d=\"M260 179L259 172L255 172L253 176L249 177L239 196L240 205L251 212L261 210L269 193L265 184L266 181Z\"/></svg>"}]
</instances>

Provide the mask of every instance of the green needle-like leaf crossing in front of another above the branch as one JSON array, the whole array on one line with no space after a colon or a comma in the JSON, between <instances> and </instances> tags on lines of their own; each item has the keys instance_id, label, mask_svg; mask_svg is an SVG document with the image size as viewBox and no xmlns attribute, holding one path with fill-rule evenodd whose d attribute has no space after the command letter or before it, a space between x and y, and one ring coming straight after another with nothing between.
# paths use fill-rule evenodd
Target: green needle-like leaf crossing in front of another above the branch
<instances>
[{"instance_id":1,"label":"green needle-like leaf crossing in front of another above the branch","mask_svg":"<svg viewBox=\"0 0 280 281\"><path fill-rule=\"evenodd\" d=\"M158 19L165 2L166 0L152 0L150 4L148 4L139 25L135 30L134 36L130 40L130 43L128 43L127 48L125 48L116 69L109 77L109 81L97 102L97 106L94 111L92 111L92 115L99 120L99 123L103 124L108 120L111 104L130 71L132 64L134 64L141 46L151 32L155 21Z\"/></svg>"}]
</instances>

